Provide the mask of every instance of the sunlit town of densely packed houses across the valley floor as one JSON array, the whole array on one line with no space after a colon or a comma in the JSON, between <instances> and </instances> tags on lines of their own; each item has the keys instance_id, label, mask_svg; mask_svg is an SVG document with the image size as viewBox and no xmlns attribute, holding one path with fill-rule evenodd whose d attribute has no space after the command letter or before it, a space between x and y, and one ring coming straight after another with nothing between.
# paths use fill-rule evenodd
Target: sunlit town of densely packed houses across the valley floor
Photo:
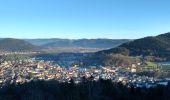
<instances>
[{"instance_id":1,"label":"sunlit town of densely packed houses across the valley floor","mask_svg":"<svg viewBox=\"0 0 170 100\"><path fill-rule=\"evenodd\" d=\"M37 61L35 59L4 61L0 64L0 85L24 83L37 79L54 79L59 82L69 82L73 79L75 83L79 83L83 78L92 78L93 81L100 78L110 79L113 82L122 82L125 85L137 87L168 84L168 80L165 79L136 75L137 65L140 64L133 64L131 68L109 66L81 68L77 65L65 68L51 61Z\"/></svg>"}]
</instances>

